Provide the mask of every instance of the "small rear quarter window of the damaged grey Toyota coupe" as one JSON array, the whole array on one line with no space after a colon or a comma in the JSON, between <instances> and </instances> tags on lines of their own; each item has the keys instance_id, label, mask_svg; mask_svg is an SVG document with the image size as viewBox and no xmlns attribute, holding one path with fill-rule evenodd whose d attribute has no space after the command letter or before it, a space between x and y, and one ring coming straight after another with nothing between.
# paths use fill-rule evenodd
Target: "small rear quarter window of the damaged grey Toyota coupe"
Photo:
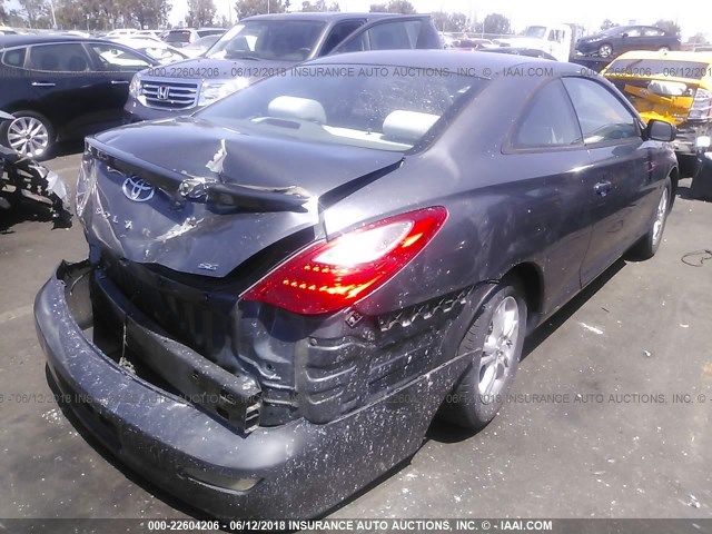
<instances>
[{"instance_id":1,"label":"small rear quarter window of the damaged grey Toyota coupe","mask_svg":"<svg viewBox=\"0 0 712 534\"><path fill-rule=\"evenodd\" d=\"M581 130L566 91L555 80L528 105L512 139L515 148L566 147L581 144Z\"/></svg>"}]
</instances>

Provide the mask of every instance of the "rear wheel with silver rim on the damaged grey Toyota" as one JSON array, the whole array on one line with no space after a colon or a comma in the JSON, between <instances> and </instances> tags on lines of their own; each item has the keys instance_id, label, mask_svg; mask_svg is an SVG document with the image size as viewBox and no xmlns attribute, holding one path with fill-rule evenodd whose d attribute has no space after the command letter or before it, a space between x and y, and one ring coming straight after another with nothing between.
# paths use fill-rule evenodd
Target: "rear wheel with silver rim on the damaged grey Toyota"
<instances>
[{"instance_id":1,"label":"rear wheel with silver rim on the damaged grey Toyota","mask_svg":"<svg viewBox=\"0 0 712 534\"><path fill-rule=\"evenodd\" d=\"M527 310L522 295L518 280L503 280L482 306L457 350L458 355L471 354L472 363L445 398L438 416L479 431L497 415L524 346Z\"/></svg>"}]
</instances>

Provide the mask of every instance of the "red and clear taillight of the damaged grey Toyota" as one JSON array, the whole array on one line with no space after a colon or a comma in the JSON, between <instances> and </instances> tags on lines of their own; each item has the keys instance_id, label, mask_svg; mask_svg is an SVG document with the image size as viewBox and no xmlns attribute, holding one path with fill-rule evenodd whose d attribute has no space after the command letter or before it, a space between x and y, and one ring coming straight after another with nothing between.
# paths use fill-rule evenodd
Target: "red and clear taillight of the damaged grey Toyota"
<instances>
[{"instance_id":1,"label":"red and clear taillight of the damaged grey Toyota","mask_svg":"<svg viewBox=\"0 0 712 534\"><path fill-rule=\"evenodd\" d=\"M326 314L373 293L435 236L447 210L434 207L389 217L319 241L281 264L241 298L296 314Z\"/></svg>"}]
</instances>

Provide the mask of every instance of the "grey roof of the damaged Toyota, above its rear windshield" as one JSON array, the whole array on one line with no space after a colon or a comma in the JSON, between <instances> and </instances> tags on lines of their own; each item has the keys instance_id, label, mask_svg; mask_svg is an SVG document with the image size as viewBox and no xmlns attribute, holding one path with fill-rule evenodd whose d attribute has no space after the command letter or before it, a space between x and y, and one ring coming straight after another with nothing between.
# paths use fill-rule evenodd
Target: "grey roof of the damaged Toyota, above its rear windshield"
<instances>
[{"instance_id":1,"label":"grey roof of the damaged Toyota, above its rear windshield","mask_svg":"<svg viewBox=\"0 0 712 534\"><path fill-rule=\"evenodd\" d=\"M503 70L524 65L536 65L552 69L553 75L580 72L581 66L551 61L548 59L532 58L512 53L486 53L476 51L463 53L457 50L377 50L367 52L348 52L335 56L326 56L313 61L301 63L304 67L312 65L374 65L386 67L414 67L419 69L448 69L456 72L458 68L474 69L475 76L490 78Z\"/></svg>"}]
</instances>

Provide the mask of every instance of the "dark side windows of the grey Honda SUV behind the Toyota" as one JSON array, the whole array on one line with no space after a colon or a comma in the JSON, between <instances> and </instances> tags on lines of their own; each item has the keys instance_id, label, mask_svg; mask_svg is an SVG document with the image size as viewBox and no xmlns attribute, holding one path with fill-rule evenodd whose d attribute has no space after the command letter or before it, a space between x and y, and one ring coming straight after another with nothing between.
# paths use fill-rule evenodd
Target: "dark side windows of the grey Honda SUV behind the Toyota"
<instances>
[{"instance_id":1,"label":"dark side windows of the grey Honda SUV behind the Toyota","mask_svg":"<svg viewBox=\"0 0 712 534\"><path fill-rule=\"evenodd\" d=\"M372 21L352 33L332 53L416 48L442 48L437 31L427 17L387 17Z\"/></svg>"}]
</instances>

